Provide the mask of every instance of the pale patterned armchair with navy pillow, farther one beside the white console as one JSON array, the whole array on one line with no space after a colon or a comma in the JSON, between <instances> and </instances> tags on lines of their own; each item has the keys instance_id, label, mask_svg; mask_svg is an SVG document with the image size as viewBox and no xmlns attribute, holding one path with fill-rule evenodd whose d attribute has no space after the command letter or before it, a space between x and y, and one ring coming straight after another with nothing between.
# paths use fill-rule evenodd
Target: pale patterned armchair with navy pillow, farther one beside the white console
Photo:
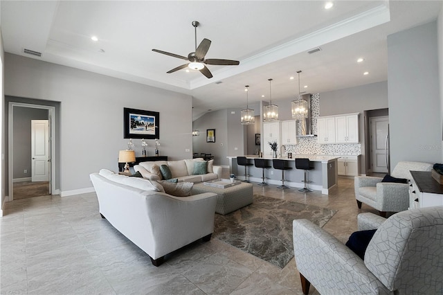
<instances>
[{"instance_id":1,"label":"pale patterned armchair with navy pillow, farther one beside the white console","mask_svg":"<svg viewBox=\"0 0 443 295\"><path fill-rule=\"evenodd\" d=\"M399 162L392 177L411 179L409 171L431 171L433 165L422 162ZM386 212L400 212L409 208L409 184L381 182L381 177L357 176L354 179L357 205L365 203L386 217Z\"/></svg>"}]
</instances>

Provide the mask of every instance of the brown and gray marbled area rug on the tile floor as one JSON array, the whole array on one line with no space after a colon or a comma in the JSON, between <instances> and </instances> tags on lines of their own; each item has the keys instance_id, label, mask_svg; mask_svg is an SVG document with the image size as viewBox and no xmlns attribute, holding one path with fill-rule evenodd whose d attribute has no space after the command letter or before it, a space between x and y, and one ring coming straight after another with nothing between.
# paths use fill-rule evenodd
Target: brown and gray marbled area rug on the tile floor
<instances>
[{"instance_id":1,"label":"brown and gray marbled area rug on the tile floor","mask_svg":"<svg viewBox=\"0 0 443 295\"><path fill-rule=\"evenodd\" d=\"M215 214L214 237L281 269L293 258L292 221L324 226L336 210L254 195L253 204Z\"/></svg>"}]
</instances>

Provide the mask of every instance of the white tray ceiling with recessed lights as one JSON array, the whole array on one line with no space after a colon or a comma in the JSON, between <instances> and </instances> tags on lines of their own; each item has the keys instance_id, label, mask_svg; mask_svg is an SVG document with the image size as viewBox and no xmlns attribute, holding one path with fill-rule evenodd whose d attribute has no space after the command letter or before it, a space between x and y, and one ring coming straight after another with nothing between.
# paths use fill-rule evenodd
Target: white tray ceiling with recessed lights
<instances>
[{"instance_id":1,"label":"white tray ceiling with recessed lights","mask_svg":"<svg viewBox=\"0 0 443 295\"><path fill-rule=\"evenodd\" d=\"M8 53L190 94L198 118L208 109L244 107L246 84L250 104L269 100L269 78L273 100L293 98L298 70L308 93L387 80L386 37L433 21L442 9L442 1L332 1L330 10L325 2L2 0L0 24ZM206 58L239 66L209 65L211 79L166 73L186 62L152 48L195 51L194 20L197 44L212 41ZM322 50L307 53L316 47Z\"/></svg>"}]
</instances>

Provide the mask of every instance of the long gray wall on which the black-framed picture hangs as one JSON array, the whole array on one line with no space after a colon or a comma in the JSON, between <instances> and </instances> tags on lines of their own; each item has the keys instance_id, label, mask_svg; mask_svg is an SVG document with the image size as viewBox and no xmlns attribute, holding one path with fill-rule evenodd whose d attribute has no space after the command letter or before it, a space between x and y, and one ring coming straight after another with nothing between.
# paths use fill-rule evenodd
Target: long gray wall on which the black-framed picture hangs
<instances>
[{"instance_id":1,"label":"long gray wall on which the black-framed picture hangs","mask_svg":"<svg viewBox=\"0 0 443 295\"><path fill-rule=\"evenodd\" d=\"M160 154L192 157L192 98L186 94L9 53L4 66L7 95L61 102L62 192L91 188L89 174L100 168L117 170L118 150L125 150L128 141L123 138L124 107L159 111ZM154 140L147 142L152 155ZM141 156L141 139L134 143Z\"/></svg>"}]
</instances>

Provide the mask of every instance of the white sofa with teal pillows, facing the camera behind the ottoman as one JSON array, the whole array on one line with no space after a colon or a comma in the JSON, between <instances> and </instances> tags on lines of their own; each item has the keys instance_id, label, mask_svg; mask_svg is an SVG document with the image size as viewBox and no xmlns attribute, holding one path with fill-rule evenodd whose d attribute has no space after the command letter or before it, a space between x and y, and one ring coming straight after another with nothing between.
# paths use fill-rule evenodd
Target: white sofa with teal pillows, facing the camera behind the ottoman
<instances>
[{"instance_id":1,"label":"white sofa with teal pillows, facing the camera behind the ottoman","mask_svg":"<svg viewBox=\"0 0 443 295\"><path fill-rule=\"evenodd\" d=\"M178 181L186 182L203 182L221 178L221 166L214 166L213 161L208 161L207 173L203 175L194 174L194 163L196 161L205 161L203 158L185 159L178 161L152 161L141 162L134 166L134 170L143 175L143 178L150 180L162 180L163 177L159 172L161 165L167 165L172 173L172 178Z\"/></svg>"}]
</instances>

